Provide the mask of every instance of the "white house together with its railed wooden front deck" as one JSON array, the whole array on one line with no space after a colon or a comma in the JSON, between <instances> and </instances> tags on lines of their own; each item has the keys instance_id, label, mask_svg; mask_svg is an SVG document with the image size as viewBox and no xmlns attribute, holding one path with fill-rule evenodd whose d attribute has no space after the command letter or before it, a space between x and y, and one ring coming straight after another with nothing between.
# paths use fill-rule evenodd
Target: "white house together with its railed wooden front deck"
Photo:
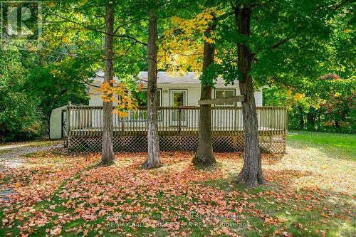
<instances>
[{"instance_id":1,"label":"white house together with its railed wooden front deck","mask_svg":"<svg viewBox=\"0 0 356 237\"><path fill-rule=\"evenodd\" d=\"M98 87L103 85L104 73L98 72L88 86L88 105L58 107L51 116L51 133L61 136L65 124L69 151L98 152L102 147L103 100ZM119 82L120 78L114 78ZM138 80L147 82L147 72ZM240 95L239 82L225 85L219 78L211 98ZM145 84L145 83L144 83ZM196 151L199 141L200 81L195 73L174 76L159 72L157 76L157 125L159 149L162 151ZM137 92L128 92L137 93ZM254 93L257 105L258 135L263 152L286 152L288 114L286 107L262 107L262 91ZM135 94L134 94L135 96ZM137 94L140 107L120 117L112 115L112 145L117 152L147 151L147 100L144 90ZM221 101L221 100L220 100ZM230 100L231 101L231 100ZM115 104L114 104L115 105ZM65 121L63 119L66 116ZM58 119L62 116L62 119ZM57 117L57 118L56 118ZM62 121L62 122L59 122ZM237 152L244 149L244 120L241 102L215 104L211 108L211 135L215 152ZM53 138L53 137L51 137Z\"/></svg>"}]
</instances>

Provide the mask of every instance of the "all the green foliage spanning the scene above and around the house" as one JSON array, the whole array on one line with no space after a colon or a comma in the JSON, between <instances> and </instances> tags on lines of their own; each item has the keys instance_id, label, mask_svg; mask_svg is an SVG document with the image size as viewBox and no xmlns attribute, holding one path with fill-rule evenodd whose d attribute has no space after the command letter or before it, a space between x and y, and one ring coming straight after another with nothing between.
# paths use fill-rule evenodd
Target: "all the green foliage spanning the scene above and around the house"
<instances>
[{"instance_id":1,"label":"all the green foliage spanning the scene above and around the house","mask_svg":"<svg viewBox=\"0 0 356 237\"><path fill-rule=\"evenodd\" d=\"M98 0L44 1L41 51L0 52L1 137L42 135L52 107L68 100L88 103L85 84L105 65L105 4ZM115 76L134 88L135 75L147 70L147 11L153 2L124 0L114 4ZM211 7L219 11L211 39L216 60L200 78L206 85L214 87L211 78L218 75L231 84L241 78L236 45L244 43L253 54L255 85L270 85L264 92L266 105L290 105L290 127L355 132L355 18L349 1L238 1L253 5L251 36L237 33L232 1L155 4L159 6L159 43L178 32L162 36L170 27L171 16L194 19ZM196 45L203 42L201 36L201 32L187 33ZM197 60L201 63L202 55ZM193 60L187 62L187 70L197 68ZM328 73L347 80L315 79ZM289 91L293 93L288 95ZM295 93L304 97L295 100Z\"/></svg>"}]
</instances>

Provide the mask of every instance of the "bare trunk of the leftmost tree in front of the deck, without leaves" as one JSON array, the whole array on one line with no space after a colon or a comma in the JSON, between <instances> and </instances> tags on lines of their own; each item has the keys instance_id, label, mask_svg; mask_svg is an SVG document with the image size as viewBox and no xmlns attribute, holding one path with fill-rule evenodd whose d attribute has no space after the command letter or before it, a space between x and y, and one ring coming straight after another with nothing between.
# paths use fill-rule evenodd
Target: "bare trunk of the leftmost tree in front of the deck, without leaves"
<instances>
[{"instance_id":1,"label":"bare trunk of the leftmost tree in front of the deck, without leaves","mask_svg":"<svg viewBox=\"0 0 356 237\"><path fill-rule=\"evenodd\" d=\"M112 41L114 34L114 11L112 2L106 6L106 35L105 35L105 77L104 83L113 84L114 65L112 61ZM108 95L111 97L112 95ZM113 124L112 124L112 101L103 102L103 147L101 152L101 164L110 165L115 162L115 154L112 148Z\"/></svg>"}]
</instances>

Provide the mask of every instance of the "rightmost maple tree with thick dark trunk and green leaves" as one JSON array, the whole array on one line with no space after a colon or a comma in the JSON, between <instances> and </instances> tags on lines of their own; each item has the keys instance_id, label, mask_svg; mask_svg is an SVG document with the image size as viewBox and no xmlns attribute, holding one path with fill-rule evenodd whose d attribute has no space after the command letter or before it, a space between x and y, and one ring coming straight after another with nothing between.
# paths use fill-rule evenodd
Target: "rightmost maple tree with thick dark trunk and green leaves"
<instances>
[{"instance_id":1,"label":"rightmost maple tree with thick dark trunk and green leaves","mask_svg":"<svg viewBox=\"0 0 356 237\"><path fill-rule=\"evenodd\" d=\"M261 168L261 154L258 148L257 113L253 97L253 80L267 77L270 80L288 80L288 76L295 78L308 74L318 75L320 73L320 63L310 63L310 60L320 60L317 54L324 48L310 44L320 43L330 40L333 31L332 19L337 19L338 11L350 11L350 5L340 4L337 1L323 2L303 1L298 4L289 4L285 1L269 5L268 2L255 3L253 1L239 2L232 1L231 7L234 9L236 18L237 35L237 63L238 78L241 93L246 95L246 101L242 102L244 117L244 167L239 174L239 180L248 186L263 184L263 174ZM298 9L295 14L295 9ZM266 11L270 12L266 16ZM315 14L315 11L318 14ZM281 18L271 18L275 14L281 14ZM283 19L288 18L288 21ZM261 19L274 26L276 32L267 33L266 23L258 23ZM283 20L282 20L283 19ZM266 27L267 28L267 27ZM318 28L318 31L315 31ZM283 30L282 30L283 29ZM282 31L283 33L282 33ZM297 32L295 32L297 31ZM234 41L233 41L234 42ZM317 45L318 45L317 43ZM298 49L296 52L295 49ZM293 53L293 54L292 54ZM298 57L308 54L310 60ZM273 60L271 60L271 57ZM272 61L267 63L266 60ZM285 60L285 67L293 62L294 67L291 75L283 77L283 67L278 67L273 63ZM290 63L288 63L288 60ZM308 61L308 69L300 68L303 63ZM226 61L225 61L226 62ZM271 66L273 65L273 66ZM263 67L263 68L262 68ZM274 71L271 70L273 68ZM268 74L263 74L268 71ZM262 73L263 72L263 73ZM227 76L226 78L229 78ZM235 80L235 75L230 78Z\"/></svg>"}]
</instances>

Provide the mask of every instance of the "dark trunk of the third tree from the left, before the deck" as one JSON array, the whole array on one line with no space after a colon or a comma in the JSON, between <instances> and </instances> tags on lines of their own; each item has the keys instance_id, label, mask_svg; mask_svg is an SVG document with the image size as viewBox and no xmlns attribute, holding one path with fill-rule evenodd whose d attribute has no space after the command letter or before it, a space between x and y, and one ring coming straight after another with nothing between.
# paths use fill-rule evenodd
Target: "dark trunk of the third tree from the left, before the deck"
<instances>
[{"instance_id":1,"label":"dark trunk of the third tree from the left, before the deck","mask_svg":"<svg viewBox=\"0 0 356 237\"><path fill-rule=\"evenodd\" d=\"M214 31L216 24L213 23L205 31L205 36L209 37ZM206 68L214 63L215 48L210 43L204 41L203 73ZM209 83L201 81L200 100L211 99L211 86ZM199 144L195 154L193 164L198 167L209 167L216 163L211 141L211 105L200 105L199 116Z\"/></svg>"}]
</instances>

